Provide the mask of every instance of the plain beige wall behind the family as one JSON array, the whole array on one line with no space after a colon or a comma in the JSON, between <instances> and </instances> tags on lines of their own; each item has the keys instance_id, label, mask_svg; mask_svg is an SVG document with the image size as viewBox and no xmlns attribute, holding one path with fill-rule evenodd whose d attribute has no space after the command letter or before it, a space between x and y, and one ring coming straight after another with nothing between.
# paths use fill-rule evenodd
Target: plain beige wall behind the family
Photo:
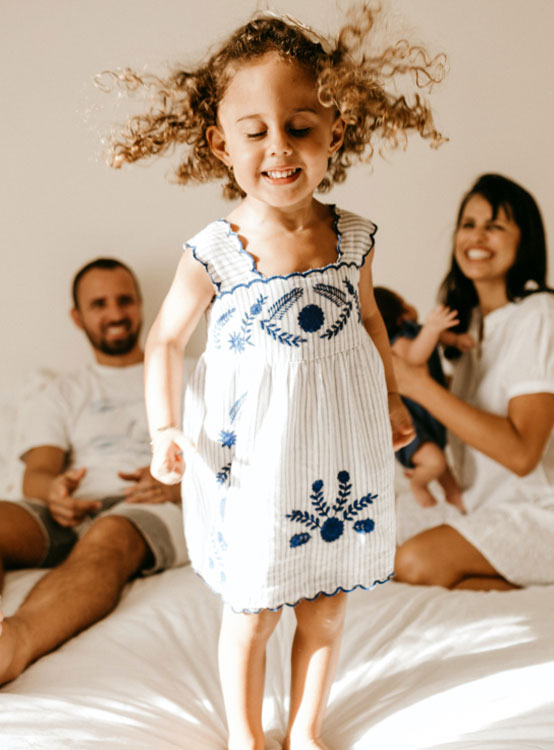
<instances>
[{"instance_id":1,"label":"plain beige wall behind the family","mask_svg":"<svg viewBox=\"0 0 554 750\"><path fill-rule=\"evenodd\" d=\"M347 3L344 2L344 5ZM379 225L375 277L420 309L433 304L462 193L485 171L531 190L553 237L552 0L393 0L416 36L449 55L433 97L450 137L352 170L331 194ZM275 6L325 31L335 0ZM106 68L187 60L241 23L255 0L0 0L2 207L0 389L33 368L90 356L67 316L74 271L99 254L137 271L152 318L180 247L227 207L216 186L180 188L167 162L114 172L101 133L124 102L92 86ZM551 276L552 281L552 276ZM197 353L201 337L191 344Z\"/></svg>"}]
</instances>

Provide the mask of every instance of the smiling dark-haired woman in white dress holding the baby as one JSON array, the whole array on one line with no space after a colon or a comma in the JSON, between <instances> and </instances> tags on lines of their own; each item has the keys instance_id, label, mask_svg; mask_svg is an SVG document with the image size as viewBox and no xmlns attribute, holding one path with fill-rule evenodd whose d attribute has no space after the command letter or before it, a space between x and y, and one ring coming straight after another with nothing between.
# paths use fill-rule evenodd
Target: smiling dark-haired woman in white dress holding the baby
<instances>
[{"instance_id":1,"label":"smiling dark-haired woman in white dress holding the baby","mask_svg":"<svg viewBox=\"0 0 554 750\"><path fill-rule=\"evenodd\" d=\"M451 350L452 392L400 360L400 388L450 431L467 514L400 546L397 578L505 589L554 580L554 294L532 196L484 175L458 214L445 303L476 349Z\"/></svg>"}]
</instances>

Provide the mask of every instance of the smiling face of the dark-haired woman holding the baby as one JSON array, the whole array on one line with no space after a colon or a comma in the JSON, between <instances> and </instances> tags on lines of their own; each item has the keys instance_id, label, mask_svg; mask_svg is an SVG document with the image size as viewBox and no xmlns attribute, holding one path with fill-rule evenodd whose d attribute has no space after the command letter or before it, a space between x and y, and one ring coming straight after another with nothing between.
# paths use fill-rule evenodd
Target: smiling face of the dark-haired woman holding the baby
<instances>
[{"instance_id":1,"label":"smiling face of the dark-haired woman holding the baby","mask_svg":"<svg viewBox=\"0 0 554 750\"><path fill-rule=\"evenodd\" d=\"M455 258L462 273L473 282L505 282L520 238L518 225L502 207L493 219L491 204L482 195L473 195L456 230Z\"/></svg>"}]
</instances>

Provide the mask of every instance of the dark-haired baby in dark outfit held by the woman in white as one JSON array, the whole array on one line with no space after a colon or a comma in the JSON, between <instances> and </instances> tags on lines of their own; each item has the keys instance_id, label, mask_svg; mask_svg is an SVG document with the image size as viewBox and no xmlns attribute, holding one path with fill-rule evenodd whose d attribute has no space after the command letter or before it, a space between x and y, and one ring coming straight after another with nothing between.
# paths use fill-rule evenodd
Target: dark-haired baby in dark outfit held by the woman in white
<instances>
[{"instance_id":1,"label":"dark-haired baby in dark outfit held by the woman in white","mask_svg":"<svg viewBox=\"0 0 554 750\"><path fill-rule=\"evenodd\" d=\"M458 324L456 310L439 305L429 313L421 326L417 322L415 308L395 292L376 287L375 299L385 321L392 350L410 364L426 363L431 376L446 386L437 345L453 346L461 351L475 346L470 334L449 330ZM405 473L410 478L414 497L424 508L436 505L437 500L429 491L428 484L437 479L444 489L446 501L465 512L460 486L444 454L446 429L415 401L403 400L412 416L416 438L397 451L396 457L406 467Z\"/></svg>"}]
</instances>

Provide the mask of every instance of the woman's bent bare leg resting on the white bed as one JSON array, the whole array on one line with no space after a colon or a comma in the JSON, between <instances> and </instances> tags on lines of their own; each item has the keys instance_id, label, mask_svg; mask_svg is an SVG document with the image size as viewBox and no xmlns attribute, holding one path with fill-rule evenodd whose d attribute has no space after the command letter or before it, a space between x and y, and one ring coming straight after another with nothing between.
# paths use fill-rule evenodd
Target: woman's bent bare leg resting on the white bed
<instances>
[{"instance_id":1,"label":"woman's bent bare leg resting on the white bed","mask_svg":"<svg viewBox=\"0 0 554 750\"><path fill-rule=\"evenodd\" d=\"M408 539L396 551L395 579L420 586L457 588L480 578L485 588L504 579L490 562L452 526L436 526ZM467 588L470 586L467 585Z\"/></svg>"}]
</instances>

